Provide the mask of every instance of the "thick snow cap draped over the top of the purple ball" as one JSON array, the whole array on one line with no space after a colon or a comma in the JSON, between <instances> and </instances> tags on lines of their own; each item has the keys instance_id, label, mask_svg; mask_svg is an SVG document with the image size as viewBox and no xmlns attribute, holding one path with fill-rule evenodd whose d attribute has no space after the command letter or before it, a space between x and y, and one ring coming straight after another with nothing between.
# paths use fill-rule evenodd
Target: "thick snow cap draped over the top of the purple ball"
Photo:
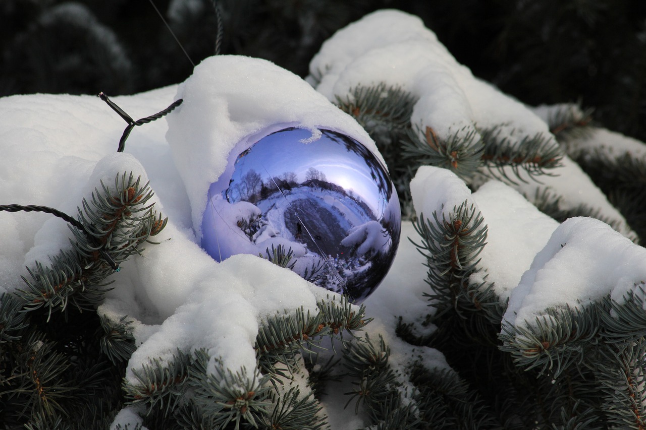
<instances>
[{"instance_id":1,"label":"thick snow cap draped over the top of the purple ball","mask_svg":"<svg viewBox=\"0 0 646 430\"><path fill-rule=\"evenodd\" d=\"M233 169L235 156L230 159L229 154L237 155L282 128L342 132L357 139L385 165L374 141L357 121L300 77L266 60L209 57L180 85L176 98L182 98L183 103L168 117L166 138L191 202L198 238L211 183Z\"/></svg>"}]
</instances>

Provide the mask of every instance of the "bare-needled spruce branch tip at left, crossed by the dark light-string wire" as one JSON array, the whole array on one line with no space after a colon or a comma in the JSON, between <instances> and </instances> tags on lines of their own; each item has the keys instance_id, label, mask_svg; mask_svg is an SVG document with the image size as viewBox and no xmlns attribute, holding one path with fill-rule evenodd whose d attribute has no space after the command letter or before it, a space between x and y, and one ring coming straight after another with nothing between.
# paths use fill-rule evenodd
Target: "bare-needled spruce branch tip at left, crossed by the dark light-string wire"
<instances>
[{"instance_id":1,"label":"bare-needled spruce branch tip at left, crossed by the dark light-string wire","mask_svg":"<svg viewBox=\"0 0 646 430\"><path fill-rule=\"evenodd\" d=\"M70 240L72 250L52 256L51 265L36 262L33 269L28 268L31 279L23 278L27 288L19 290L25 309L45 307L49 315L54 309L66 311L70 305L79 311L96 309L108 291L107 278L114 272L101 253L121 263L141 253L140 245L151 242L151 236L166 225L167 219L149 204L152 190L140 182L132 173L124 173L116 176L114 188L101 183L102 192L95 189L90 201L83 200L78 222L84 230L70 228L75 238Z\"/></svg>"}]
</instances>

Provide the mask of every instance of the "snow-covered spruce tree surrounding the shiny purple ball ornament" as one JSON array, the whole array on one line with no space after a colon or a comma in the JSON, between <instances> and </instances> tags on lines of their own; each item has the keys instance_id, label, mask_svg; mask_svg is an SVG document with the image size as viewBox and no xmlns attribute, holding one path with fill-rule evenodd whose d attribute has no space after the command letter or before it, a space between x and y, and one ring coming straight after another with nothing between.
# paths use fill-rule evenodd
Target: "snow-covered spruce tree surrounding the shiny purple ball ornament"
<instances>
[{"instance_id":1,"label":"snow-covered spruce tree surrounding the shiny purple ball ornament","mask_svg":"<svg viewBox=\"0 0 646 430\"><path fill-rule=\"evenodd\" d=\"M224 56L114 101L125 133L98 97L0 99L0 204L87 230L0 211L5 428L644 427L640 141L506 96L394 10L328 39L307 83ZM284 249L198 246L230 150L284 123L379 148L400 192L360 306Z\"/></svg>"}]
</instances>

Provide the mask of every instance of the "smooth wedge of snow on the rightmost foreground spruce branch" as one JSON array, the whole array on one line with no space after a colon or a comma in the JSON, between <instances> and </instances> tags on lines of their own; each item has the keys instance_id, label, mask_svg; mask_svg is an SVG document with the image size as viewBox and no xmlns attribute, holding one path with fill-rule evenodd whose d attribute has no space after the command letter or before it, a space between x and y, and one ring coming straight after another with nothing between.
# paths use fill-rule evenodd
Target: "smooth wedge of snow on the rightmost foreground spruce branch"
<instances>
[{"instance_id":1,"label":"smooth wedge of snow on the rightmost foreground spruce branch","mask_svg":"<svg viewBox=\"0 0 646 430\"><path fill-rule=\"evenodd\" d=\"M583 307L610 295L621 303L646 280L646 249L592 218L570 218L536 254L511 294L503 321L536 322L545 309Z\"/></svg>"}]
</instances>

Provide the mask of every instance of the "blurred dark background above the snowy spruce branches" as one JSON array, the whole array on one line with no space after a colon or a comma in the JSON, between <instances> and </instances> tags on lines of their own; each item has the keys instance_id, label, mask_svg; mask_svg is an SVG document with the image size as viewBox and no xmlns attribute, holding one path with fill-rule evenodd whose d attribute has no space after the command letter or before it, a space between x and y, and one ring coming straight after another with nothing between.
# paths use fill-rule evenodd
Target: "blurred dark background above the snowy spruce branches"
<instances>
[{"instance_id":1,"label":"blurred dark background above the snowy spruce branches","mask_svg":"<svg viewBox=\"0 0 646 430\"><path fill-rule=\"evenodd\" d=\"M212 55L211 0L154 0L194 63ZM530 105L580 102L646 140L643 0L220 0L223 54L306 76L335 30L379 8L419 15L475 76ZM172 13L169 13L169 6ZM0 1L0 96L132 94L193 66L149 0Z\"/></svg>"}]
</instances>

